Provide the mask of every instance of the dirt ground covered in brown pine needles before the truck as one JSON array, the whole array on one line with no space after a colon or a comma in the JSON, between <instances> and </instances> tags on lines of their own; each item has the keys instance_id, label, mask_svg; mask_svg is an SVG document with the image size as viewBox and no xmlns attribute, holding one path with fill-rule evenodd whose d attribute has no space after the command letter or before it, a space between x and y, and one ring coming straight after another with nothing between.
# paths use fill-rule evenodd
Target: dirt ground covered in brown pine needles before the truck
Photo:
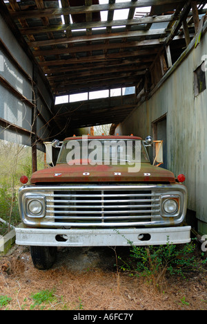
<instances>
[{"instance_id":1,"label":"dirt ground covered in brown pine needles before the truck","mask_svg":"<svg viewBox=\"0 0 207 324\"><path fill-rule=\"evenodd\" d=\"M117 271L116 254L128 248L61 248L50 270L33 267L30 250L14 246L0 256L0 309L8 310L207 310L207 278L171 276L159 291L144 278ZM52 291L35 303L34 294ZM6 301L5 301L6 300Z\"/></svg>"}]
</instances>

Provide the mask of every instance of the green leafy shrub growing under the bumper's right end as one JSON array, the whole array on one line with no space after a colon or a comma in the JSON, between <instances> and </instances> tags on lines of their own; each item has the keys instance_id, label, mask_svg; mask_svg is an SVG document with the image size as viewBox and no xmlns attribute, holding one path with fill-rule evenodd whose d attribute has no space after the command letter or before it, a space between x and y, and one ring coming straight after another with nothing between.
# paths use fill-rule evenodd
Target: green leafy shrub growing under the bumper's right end
<instances>
[{"instance_id":1,"label":"green leafy shrub growing under the bumper's right end","mask_svg":"<svg viewBox=\"0 0 207 324\"><path fill-rule=\"evenodd\" d=\"M134 246L129 242L131 259L121 265L121 270L128 271L130 276L143 276L157 288L166 275L186 278L186 273L202 271L207 263L202 253L197 255L194 241L178 246L169 241L161 246Z\"/></svg>"}]
</instances>

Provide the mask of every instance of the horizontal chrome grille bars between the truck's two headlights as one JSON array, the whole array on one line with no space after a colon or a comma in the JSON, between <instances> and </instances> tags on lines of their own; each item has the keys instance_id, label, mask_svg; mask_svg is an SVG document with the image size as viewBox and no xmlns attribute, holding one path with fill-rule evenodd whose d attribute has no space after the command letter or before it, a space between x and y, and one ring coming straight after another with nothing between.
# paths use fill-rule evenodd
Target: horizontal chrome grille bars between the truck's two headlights
<instances>
[{"instance_id":1,"label":"horizontal chrome grille bars between the truck's two headlights","mask_svg":"<svg viewBox=\"0 0 207 324\"><path fill-rule=\"evenodd\" d=\"M160 197L137 188L86 188L46 193L46 217L58 226L139 226L160 219Z\"/></svg>"}]
</instances>

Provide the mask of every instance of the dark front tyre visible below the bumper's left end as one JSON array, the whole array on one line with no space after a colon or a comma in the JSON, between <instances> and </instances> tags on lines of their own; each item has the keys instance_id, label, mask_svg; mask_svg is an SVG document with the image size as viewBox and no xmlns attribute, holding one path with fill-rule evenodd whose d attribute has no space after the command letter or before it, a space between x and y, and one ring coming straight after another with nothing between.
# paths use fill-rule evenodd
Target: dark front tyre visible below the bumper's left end
<instances>
[{"instance_id":1,"label":"dark front tyre visible below the bumper's left end","mask_svg":"<svg viewBox=\"0 0 207 324\"><path fill-rule=\"evenodd\" d=\"M34 267L46 270L52 267L57 256L56 246L30 246L30 253Z\"/></svg>"}]
</instances>

